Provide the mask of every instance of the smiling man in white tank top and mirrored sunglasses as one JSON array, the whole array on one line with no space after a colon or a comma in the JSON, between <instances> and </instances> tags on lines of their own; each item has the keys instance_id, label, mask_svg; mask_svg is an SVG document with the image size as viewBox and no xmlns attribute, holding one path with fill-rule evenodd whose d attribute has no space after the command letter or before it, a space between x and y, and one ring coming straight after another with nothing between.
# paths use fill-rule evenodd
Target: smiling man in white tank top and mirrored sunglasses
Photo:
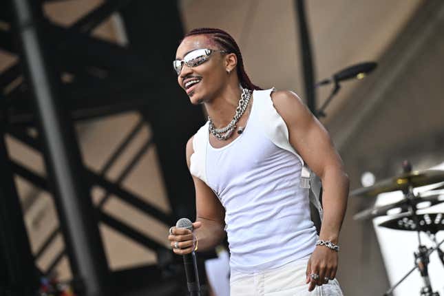
<instances>
[{"instance_id":1,"label":"smiling man in white tank top and mirrored sunglasses","mask_svg":"<svg viewBox=\"0 0 444 296\"><path fill-rule=\"evenodd\" d=\"M173 252L212 249L226 233L231 296L342 295L335 275L349 181L326 129L295 93L251 83L222 30L186 34L173 68L191 103L209 115L186 147L196 221L193 231L171 227ZM319 237L304 164L323 185Z\"/></svg>"}]
</instances>

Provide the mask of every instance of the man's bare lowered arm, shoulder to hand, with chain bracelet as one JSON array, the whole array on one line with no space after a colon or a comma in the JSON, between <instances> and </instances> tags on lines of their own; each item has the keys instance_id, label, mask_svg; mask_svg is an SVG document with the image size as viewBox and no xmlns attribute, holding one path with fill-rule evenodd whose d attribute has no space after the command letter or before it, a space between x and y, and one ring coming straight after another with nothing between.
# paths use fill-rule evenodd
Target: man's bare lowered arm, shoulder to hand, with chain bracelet
<instances>
[{"instance_id":1,"label":"man's bare lowered arm, shoulder to hand, with chain bracelet","mask_svg":"<svg viewBox=\"0 0 444 296\"><path fill-rule=\"evenodd\" d=\"M298 151L310 169L313 169L321 178L324 220L319 239L330 240L337 244L346 212L349 187L348 176L343 169L342 160L326 129L296 94L285 91L275 92L272 94L272 98L277 112L288 127L290 144ZM316 272L319 272L321 279L324 279L324 276L334 278L337 269L335 251L327 249L325 246L318 246L312 259L315 253L317 262L312 261L311 263L319 265L315 266L315 269L319 269Z\"/></svg>"}]
</instances>

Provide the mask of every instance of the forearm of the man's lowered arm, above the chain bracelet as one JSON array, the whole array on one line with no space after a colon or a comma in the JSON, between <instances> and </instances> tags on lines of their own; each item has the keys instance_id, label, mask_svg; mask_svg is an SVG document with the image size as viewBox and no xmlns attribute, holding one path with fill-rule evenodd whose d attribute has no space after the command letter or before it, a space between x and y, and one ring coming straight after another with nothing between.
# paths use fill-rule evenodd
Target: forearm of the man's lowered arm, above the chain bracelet
<instances>
[{"instance_id":1,"label":"forearm of the man's lowered arm, above the chain bracelet","mask_svg":"<svg viewBox=\"0 0 444 296\"><path fill-rule=\"evenodd\" d=\"M322 221L319 239L337 244L347 208L349 180L341 168L326 169L322 178Z\"/></svg>"}]
</instances>

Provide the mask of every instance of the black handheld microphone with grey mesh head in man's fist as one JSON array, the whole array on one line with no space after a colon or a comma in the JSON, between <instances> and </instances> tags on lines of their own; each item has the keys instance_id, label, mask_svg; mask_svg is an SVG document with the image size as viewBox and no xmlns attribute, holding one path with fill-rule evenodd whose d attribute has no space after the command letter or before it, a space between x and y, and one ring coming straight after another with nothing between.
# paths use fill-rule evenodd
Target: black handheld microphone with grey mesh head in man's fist
<instances>
[{"instance_id":1,"label":"black handheld microphone with grey mesh head in man's fist","mask_svg":"<svg viewBox=\"0 0 444 296\"><path fill-rule=\"evenodd\" d=\"M185 228L193 231L193 223L187 218L179 219L178 222L176 223L176 227ZM188 291L191 296L199 296L200 284L199 284L199 275L198 275L198 265L195 263L194 251L189 254L183 255L183 258L185 266L185 275L187 275Z\"/></svg>"}]
</instances>

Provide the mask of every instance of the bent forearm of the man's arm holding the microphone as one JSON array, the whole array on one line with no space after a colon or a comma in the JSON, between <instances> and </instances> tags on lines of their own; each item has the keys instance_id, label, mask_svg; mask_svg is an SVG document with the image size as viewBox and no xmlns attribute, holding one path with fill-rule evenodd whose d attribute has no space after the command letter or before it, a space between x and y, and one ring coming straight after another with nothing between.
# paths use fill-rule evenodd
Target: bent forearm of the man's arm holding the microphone
<instances>
[{"instance_id":1,"label":"bent forearm of the man's arm holding the microphone","mask_svg":"<svg viewBox=\"0 0 444 296\"><path fill-rule=\"evenodd\" d=\"M197 221L202 223L202 226L193 231L195 237L198 239L198 251L214 249L226 235L224 225L220 222L200 217L196 219L196 222Z\"/></svg>"}]
</instances>

